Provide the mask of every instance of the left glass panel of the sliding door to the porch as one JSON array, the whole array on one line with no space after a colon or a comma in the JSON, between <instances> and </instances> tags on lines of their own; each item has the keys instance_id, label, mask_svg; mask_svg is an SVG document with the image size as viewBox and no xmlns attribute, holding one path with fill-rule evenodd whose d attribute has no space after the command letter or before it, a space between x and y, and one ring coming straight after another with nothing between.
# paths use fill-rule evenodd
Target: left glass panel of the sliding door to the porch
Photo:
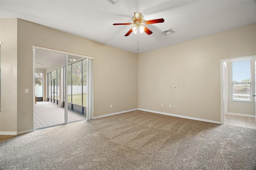
<instances>
[{"instance_id":1,"label":"left glass panel of the sliding door to the porch","mask_svg":"<svg viewBox=\"0 0 256 170\"><path fill-rule=\"evenodd\" d=\"M42 79L46 80L43 81L41 86L42 100L35 102L34 128L40 129L62 125L66 123L66 121L64 104L59 97L59 80L64 76L60 74L60 70L65 66L66 55L51 51L34 49L34 57L35 71L42 72ZM39 77L39 75L37 75L37 77ZM40 86L36 87L38 89ZM64 88L65 86L62 85L61 87Z\"/></svg>"}]
</instances>

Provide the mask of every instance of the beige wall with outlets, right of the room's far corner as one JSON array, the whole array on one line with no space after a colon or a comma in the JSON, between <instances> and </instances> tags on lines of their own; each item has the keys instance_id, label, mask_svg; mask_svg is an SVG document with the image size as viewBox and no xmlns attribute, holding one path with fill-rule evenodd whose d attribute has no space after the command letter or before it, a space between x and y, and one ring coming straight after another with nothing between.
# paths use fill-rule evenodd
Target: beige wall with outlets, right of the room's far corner
<instances>
[{"instance_id":1,"label":"beige wall with outlets, right of the room's far corner","mask_svg":"<svg viewBox=\"0 0 256 170\"><path fill-rule=\"evenodd\" d=\"M255 54L256 24L141 53L138 107L220 122L220 60Z\"/></svg>"}]
</instances>

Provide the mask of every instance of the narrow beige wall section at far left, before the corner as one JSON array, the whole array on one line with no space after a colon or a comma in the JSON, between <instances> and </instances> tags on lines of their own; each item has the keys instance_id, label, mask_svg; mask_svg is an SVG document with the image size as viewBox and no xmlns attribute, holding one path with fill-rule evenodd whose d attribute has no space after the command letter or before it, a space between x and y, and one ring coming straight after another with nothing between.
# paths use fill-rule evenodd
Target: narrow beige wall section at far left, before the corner
<instances>
[{"instance_id":1,"label":"narrow beige wall section at far left, before the corner","mask_svg":"<svg viewBox=\"0 0 256 170\"><path fill-rule=\"evenodd\" d=\"M1 111L0 131L17 131L17 19L0 20ZM8 74L5 74L8 73ZM25 89L23 90L25 93Z\"/></svg>"}]
</instances>

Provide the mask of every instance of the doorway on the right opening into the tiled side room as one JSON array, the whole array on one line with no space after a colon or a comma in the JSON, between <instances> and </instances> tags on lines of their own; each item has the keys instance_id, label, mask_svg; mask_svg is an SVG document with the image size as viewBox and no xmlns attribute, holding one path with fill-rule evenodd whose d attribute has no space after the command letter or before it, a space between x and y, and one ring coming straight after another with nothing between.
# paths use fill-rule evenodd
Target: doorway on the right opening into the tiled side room
<instances>
[{"instance_id":1,"label":"doorway on the right opening into the tiled side room","mask_svg":"<svg viewBox=\"0 0 256 170\"><path fill-rule=\"evenodd\" d=\"M221 60L222 124L256 128L255 61L256 55Z\"/></svg>"}]
</instances>

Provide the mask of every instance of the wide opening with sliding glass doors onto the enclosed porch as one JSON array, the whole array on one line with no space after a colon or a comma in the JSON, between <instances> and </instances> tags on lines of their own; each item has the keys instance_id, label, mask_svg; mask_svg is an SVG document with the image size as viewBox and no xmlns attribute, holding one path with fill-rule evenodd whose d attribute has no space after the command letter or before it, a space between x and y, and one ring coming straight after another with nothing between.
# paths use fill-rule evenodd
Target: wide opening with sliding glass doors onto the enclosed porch
<instances>
[{"instance_id":1,"label":"wide opening with sliding glass doors onto the enclosed porch","mask_svg":"<svg viewBox=\"0 0 256 170\"><path fill-rule=\"evenodd\" d=\"M34 46L34 61L34 129L91 119L93 57Z\"/></svg>"}]
</instances>

